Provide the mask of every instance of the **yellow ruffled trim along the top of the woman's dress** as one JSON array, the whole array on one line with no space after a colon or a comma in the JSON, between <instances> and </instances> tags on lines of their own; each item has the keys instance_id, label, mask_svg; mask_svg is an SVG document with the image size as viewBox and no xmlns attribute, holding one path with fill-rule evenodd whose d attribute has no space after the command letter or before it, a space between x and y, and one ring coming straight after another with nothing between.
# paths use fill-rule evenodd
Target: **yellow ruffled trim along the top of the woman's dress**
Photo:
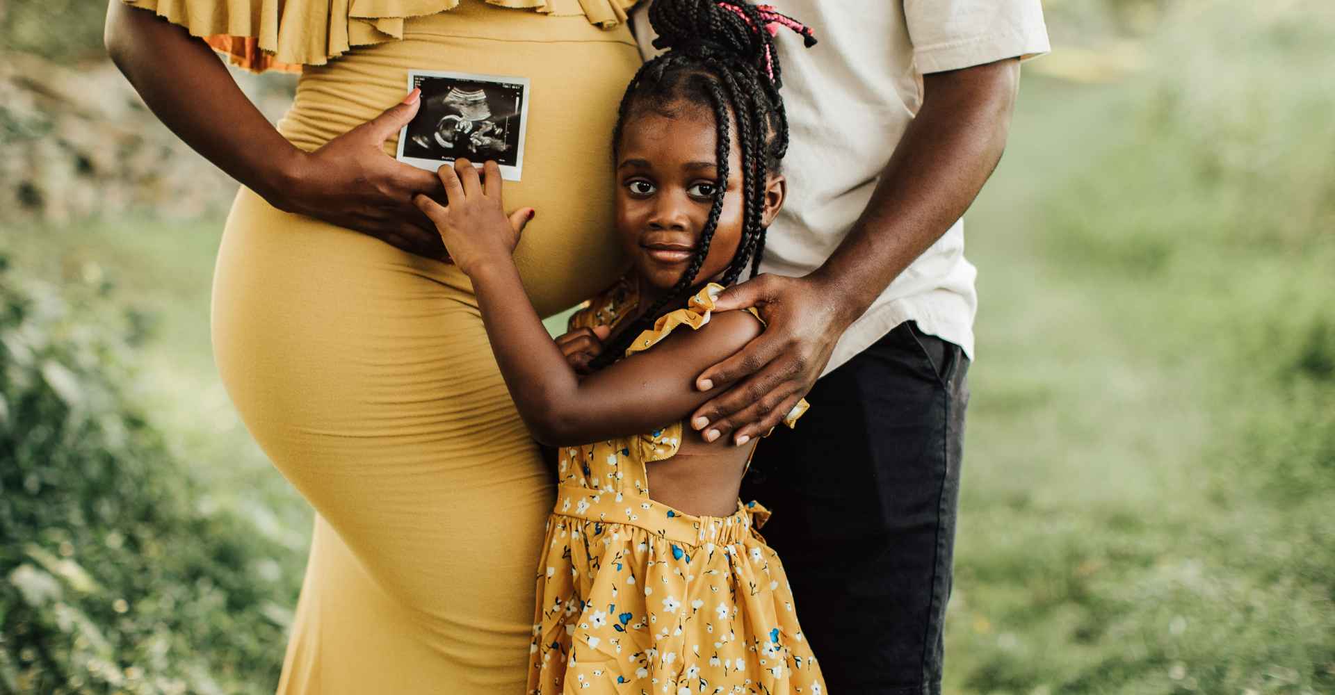
<instances>
[{"instance_id":1,"label":"yellow ruffled trim along the top of the woman's dress","mask_svg":"<svg viewBox=\"0 0 1335 695\"><path fill-rule=\"evenodd\" d=\"M300 72L358 45L403 37L403 21L446 12L461 0L121 0L203 37L252 72ZM486 0L554 16L583 15L610 29L635 0Z\"/></svg>"}]
</instances>

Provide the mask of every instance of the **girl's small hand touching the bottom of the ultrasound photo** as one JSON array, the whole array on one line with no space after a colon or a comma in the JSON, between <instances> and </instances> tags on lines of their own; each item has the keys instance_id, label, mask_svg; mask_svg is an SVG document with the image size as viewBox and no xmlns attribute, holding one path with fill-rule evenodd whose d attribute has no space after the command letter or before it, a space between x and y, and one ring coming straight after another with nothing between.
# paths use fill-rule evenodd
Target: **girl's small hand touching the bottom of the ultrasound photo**
<instances>
[{"instance_id":1,"label":"girl's small hand touching the bottom of the ultrasound photo","mask_svg":"<svg viewBox=\"0 0 1335 695\"><path fill-rule=\"evenodd\" d=\"M533 208L519 208L507 217L501 201L501 167L487 161L485 173L486 180L479 180L473 163L458 159L437 172L447 205L425 195L413 196L418 209L435 223L454 264L469 276L494 263L510 263L523 227L534 216Z\"/></svg>"}]
</instances>

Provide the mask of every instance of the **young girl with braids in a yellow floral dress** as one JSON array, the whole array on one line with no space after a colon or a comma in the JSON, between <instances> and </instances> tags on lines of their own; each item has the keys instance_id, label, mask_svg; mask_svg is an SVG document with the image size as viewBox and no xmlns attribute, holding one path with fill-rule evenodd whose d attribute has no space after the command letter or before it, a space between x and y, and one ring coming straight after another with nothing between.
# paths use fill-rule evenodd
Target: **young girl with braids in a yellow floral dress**
<instances>
[{"instance_id":1,"label":"young girl with braids in a yellow floral dress","mask_svg":"<svg viewBox=\"0 0 1335 695\"><path fill-rule=\"evenodd\" d=\"M682 436L714 392L693 380L762 329L714 297L756 265L784 203L788 127L772 33L810 32L745 0L657 0L668 53L621 103L617 232L631 272L553 341L510 253L501 173L441 168L449 205L418 196L473 280L487 336L533 435L562 447L538 571L534 694L820 694L784 568L737 499L754 442ZM793 408L788 424L801 415ZM590 444L591 442L591 444Z\"/></svg>"}]
</instances>

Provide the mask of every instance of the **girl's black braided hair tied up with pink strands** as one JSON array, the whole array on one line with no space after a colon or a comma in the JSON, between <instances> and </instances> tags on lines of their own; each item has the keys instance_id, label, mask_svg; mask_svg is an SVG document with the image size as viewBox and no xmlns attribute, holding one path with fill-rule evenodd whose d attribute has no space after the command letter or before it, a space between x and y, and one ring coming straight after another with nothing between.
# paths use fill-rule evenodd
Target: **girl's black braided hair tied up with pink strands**
<instances>
[{"instance_id":1,"label":"girl's black braided hair tied up with pink strands","mask_svg":"<svg viewBox=\"0 0 1335 695\"><path fill-rule=\"evenodd\" d=\"M705 228L700 232L696 255L681 280L603 350L594 360L595 367L625 355L630 343L653 327L663 308L685 299L694 288L724 209L726 185L722 183L729 177L733 120L741 145L742 239L724 271L722 284L736 283L748 264L750 277L760 272L760 260L765 253L765 228L761 225L765 181L770 173L778 172L780 161L788 152L788 117L778 95L784 83L774 35L780 27L788 27L804 37L808 48L816 45L808 27L770 5L754 5L746 0L654 0L649 8L649 24L658 33L654 48L668 52L645 63L626 87L611 133L613 156L621 148L622 129L633 115L651 111L676 117L678 113L673 107L677 104L709 107L717 128L720 185L716 187Z\"/></svg>"}]
</instances>

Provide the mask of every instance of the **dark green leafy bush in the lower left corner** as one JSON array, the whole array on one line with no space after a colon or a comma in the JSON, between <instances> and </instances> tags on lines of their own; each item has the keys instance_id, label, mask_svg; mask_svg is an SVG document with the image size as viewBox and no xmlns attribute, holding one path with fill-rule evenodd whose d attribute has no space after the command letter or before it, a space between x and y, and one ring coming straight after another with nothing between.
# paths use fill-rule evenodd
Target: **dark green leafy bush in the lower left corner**
<instances>
[{"instance_id":1,"label":"dark green leafy bush in the lower left corner","mask_svg":"<svg viewBox=\"0 0 1335 695\"><path fill-rule=\"evenodd\" d=\"M264 692L294 578L211 508L127 394L108 284L0 272L0 691Z\"/></svg>"}]
</instances>

